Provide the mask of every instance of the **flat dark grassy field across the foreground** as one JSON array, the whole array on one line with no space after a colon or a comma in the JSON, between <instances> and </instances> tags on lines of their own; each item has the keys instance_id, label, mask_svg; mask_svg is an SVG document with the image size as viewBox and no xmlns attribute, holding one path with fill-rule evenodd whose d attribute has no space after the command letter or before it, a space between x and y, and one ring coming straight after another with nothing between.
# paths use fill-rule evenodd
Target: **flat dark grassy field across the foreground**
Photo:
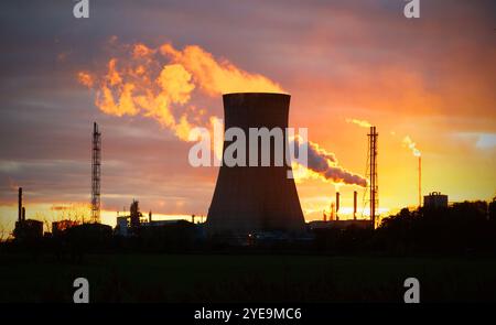
<instances>
[{"instance_id":1,"label":"flat dark grassy field across the foreground","mask_svg":"<svg viewBox=\"0 0 496 325\"><path fill-rule=\"evenodd\" d=\"M0 302L402 302L406 278L421 301L496 301L496 260L324 256L98 254L82 263L0 256Z\"/></svg>"}]
</instances>

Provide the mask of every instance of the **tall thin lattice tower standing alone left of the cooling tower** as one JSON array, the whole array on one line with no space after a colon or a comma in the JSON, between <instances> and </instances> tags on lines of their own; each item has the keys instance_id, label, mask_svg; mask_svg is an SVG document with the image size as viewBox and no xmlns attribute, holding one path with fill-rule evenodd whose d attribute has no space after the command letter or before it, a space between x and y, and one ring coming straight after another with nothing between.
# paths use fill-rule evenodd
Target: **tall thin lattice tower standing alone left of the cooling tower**
<instances>
[{"instance_id":1,"label":"tall thin lattice tower standing alone left of the cooling tower","mask_svg":"<svg viewBox=\"0 0 496 325\"><path fill-rule=\"evenodd\" d=\"M101 132L93 123L91 149L91 223L100 221Z\"/></svg>"}]
</instances>

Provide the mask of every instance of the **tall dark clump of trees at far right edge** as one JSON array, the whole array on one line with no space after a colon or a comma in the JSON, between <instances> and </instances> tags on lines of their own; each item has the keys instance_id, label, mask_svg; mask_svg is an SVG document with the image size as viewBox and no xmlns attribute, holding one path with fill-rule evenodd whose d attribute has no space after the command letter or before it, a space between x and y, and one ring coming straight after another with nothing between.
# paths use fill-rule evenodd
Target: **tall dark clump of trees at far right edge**
<instances>
[{"instance_id":1,"label":"tall dark clump of trees at far right edge","mask_svg":"<svg viewBox=\"0 0 496 325\"><path fill-rule=\"evenodd\" d=\"M485 202L464 202L449 208L414 212L405 208L382 220L373 247L399 254L494 253L496 227L487 210Z\"/></svg>"}]
</instances>

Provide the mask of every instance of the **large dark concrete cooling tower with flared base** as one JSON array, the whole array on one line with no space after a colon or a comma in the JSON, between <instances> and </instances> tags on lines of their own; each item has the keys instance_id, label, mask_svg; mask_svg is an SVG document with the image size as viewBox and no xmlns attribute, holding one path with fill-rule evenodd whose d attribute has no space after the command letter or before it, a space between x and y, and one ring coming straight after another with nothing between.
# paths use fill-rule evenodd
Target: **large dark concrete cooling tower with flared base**
<instances>
[{"instance_id":1,"label":"large dark concrete cooling tower with flared base","mask_svg":"<svg viewBox=\"0 0 496 325\"><path fill-rule=\"evenodd\" d=\"M223 96L225 130L237 127L246 134L246 161L249 162L249 128L281 128L283 143L288 127L290 95L239 93ZM236 139L235 139L236 140ZM206 220L208 235L244 236L256 231L301 232L304 218L291 166L274 166L273 140L270 166L223 166ZM230 141L224 141L224 149ZM259 145L257 145L259 147ZM260 148L259 162L260 162ZM285 148L284 148L285 154Z\"/></svg>"}]
</instances>

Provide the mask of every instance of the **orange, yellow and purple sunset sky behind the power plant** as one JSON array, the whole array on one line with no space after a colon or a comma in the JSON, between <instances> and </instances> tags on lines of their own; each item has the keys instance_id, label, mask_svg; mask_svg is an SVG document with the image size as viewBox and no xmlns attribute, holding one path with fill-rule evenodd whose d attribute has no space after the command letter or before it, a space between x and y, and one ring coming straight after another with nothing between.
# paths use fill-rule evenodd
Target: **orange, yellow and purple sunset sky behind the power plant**
<instances>
[{"instance_id":1,"label":"orange, yellow and purple sunset sky behind the power plant","mask_svg":"<svg viewBox=\"0 0 496 325\"><path fill-rule=\"evenodd\" d=\"M105 223L133 198L143 212L206 215L218 169L192 167L192 143L158 119L104 112L98 89L78 80L120 59L116 44L196 45L263 76L291 94L290 127L309 128L312 142L359 175L368 129L349 119L377 126L384 214L418 203L407 136L422 154L423 194L440 191L451 202L496 195L495 1L421 0L419 19L403 17L402 0L89 2L88 19L73 17L74 1L2 4L4 228L17 218L18 186L29 218L57 218L53 206L89 202L93 121L103 131ZM222 118L219 94L197 86L192 95L197 110ZM313 178L296 186L306 220L321 218L335 185ZM345 208L355 189L362 201L362 187L339 186Z\"/></svg>"}]
</instances>

